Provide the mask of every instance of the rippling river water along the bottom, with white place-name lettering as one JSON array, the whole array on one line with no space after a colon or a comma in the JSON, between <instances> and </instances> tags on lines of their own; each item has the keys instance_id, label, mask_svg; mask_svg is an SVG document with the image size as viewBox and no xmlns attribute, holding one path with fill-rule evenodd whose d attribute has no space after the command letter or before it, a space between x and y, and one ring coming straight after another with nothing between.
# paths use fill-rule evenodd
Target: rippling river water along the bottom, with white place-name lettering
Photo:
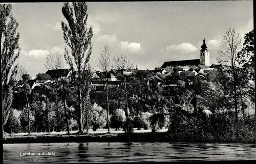
<instances>
[{"instance_id":1,"label":"rippling river water along the bottom, with white place-name lettering","mask_svg":"<svg viewBox=\"0 0 256 164\"><path fill-rule=\"evenodd\" d=\"M23 156L29 152L33 155ZM46 143L4 144L3 155L4 163L255 160L256 149L249 144Z\"/></svg>"}]
</instances>

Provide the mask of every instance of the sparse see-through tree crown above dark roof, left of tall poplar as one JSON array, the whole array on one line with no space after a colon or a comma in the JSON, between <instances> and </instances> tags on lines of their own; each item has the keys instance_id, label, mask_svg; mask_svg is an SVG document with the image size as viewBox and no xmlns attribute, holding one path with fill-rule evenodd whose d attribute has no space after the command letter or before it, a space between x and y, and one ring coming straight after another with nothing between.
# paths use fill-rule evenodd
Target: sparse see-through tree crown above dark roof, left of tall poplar
<instances>
[{"instance_id":1,"label":"sparse see-through tree crown above dark roof, left of tall poplar","mask_svg":"<svg viewBox=\"0 0 256 164\"><path fill-rule=\"evenodd\" d=\"M64 67L63 57L57 51L56 53L49 53L46 56L45 69L62 69Z\"/></svg>"}]
</instances>

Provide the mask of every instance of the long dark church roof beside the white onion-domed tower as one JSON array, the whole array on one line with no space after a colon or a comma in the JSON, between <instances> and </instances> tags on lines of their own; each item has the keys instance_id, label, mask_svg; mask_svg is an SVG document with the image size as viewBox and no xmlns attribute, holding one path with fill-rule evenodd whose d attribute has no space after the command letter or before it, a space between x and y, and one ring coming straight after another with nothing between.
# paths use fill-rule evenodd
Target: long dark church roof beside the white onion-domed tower
<instances>
[{"instance_id":1,"label":"long dark church roof beside the white onion-domed tower","mask_svg":"<svg viewBox=\"0 0 256 164\"><path fill-rule=\"evenodd\" d=\"M192 60L182 60L182 61L169 61L164 62L161 68L166 68L168 66L176 67L176 66L198 66L200 64L200 59L192 59Z\"/></svg>"}]
</instances>

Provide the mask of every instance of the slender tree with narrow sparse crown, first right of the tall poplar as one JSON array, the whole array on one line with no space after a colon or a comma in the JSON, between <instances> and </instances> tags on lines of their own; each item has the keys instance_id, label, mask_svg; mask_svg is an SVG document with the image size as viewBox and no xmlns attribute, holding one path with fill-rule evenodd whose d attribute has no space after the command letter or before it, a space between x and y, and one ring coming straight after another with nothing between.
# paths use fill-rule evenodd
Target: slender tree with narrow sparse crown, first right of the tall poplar
<instances>
[{"instance_id":1,"label":"slender tree with narrow sparse crown, first right of the tall poplar","mask_svg":"<svg viewBox=\"0 0 256 164\"><path fill-rule=\"evenodd\" d=\"M108 131L110 132L110 122L109 122L109 93L108 93L108 71L110 70L111 52L109 51L109 46L105 45L103 50L100 52L100 59L98 61L98 67L105 73L105 78L101 79L106 86L106 111L108 117ZM101 77L101 76L100 76Z\"/></svg>"}]
</instances>

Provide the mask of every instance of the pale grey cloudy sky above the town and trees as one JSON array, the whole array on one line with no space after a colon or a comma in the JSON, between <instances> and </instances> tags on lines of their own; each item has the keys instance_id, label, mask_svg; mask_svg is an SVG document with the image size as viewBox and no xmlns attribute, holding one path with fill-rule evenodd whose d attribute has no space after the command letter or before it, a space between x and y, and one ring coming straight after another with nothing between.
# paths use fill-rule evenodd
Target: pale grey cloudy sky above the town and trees
<instances>
[{"instance_id":1,"label":"pale grey cloudy sky above the town and trees","mask_svg":"<svg viewBox=\"0 0 256 164\"><path fill-rule=\"evenodd\" d=\"M12 5L20 34L17 62L32 77L47 71L47 54L63 55L62 6ZM253 29L253 1L90 2L88 16L94 32L93 70L99 70L97 61L106 44L112 58L124 54L138 69L154 69L165 61L199 59L204 37L214 64L228 28L235 28L242 38Z\"/></svg>"}]
</instances>

